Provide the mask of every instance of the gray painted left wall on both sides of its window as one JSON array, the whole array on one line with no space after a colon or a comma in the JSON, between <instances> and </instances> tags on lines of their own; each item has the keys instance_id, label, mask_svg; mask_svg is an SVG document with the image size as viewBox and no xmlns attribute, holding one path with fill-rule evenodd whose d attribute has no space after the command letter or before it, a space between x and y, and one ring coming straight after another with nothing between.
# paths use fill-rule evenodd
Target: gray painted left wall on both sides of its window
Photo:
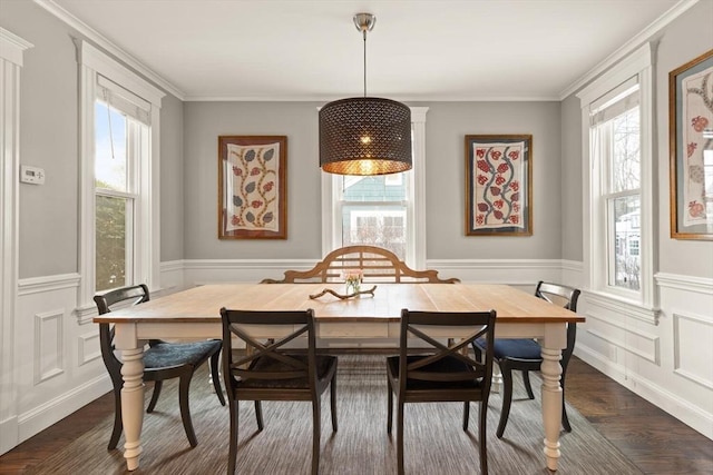
<instances>
[{"instance_id":1,"label":"gray painted left wall on both sides of its window","mask_svg":"<svg viewBox=\"0 0 713 475\"><path fill-rule=\"evenodd\" d=\"M0 26L33 48L20 89L20 164L41 167L42 186L20 185L19 277L78 270L78 65L81 36L31 1L2 1ZM183 257L183 102L163 100L162 260Z\"/></svg>"}]
</instances>

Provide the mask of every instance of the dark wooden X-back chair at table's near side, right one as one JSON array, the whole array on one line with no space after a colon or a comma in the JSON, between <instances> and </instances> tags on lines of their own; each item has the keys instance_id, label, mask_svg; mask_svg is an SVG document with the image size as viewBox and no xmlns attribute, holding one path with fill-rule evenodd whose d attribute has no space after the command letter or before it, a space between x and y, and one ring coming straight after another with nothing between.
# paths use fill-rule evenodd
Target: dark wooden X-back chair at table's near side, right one
<instances>
[{"instance_id":1,"label":"dark wooden X-back chair at table's near side, right one","mask_svg":"<svg viewBox=\"0 0 713 475\"><path fill-rule=\"evenodd\" d=\"M462 402L463 431L468 431L470 402L480 402L480 471L488 473L486 420L492 352L485 360L473 359L465 350L475 339L485 338L492 348L496 311L442 313L401 310L399 356L387 358L389 409L387 433L391 434L393 396L397 397L397 457L403 474L403 406L406 403ZM457 331L458 330L458 331ZM457 333L455 333L457 331ZM453 337L467 331L467 336ZM427 348L423 348L427 344ZM417 349L418 348L418 349ZM413 354L418 352L418 354Z\"/></svg>"}]
</instances>

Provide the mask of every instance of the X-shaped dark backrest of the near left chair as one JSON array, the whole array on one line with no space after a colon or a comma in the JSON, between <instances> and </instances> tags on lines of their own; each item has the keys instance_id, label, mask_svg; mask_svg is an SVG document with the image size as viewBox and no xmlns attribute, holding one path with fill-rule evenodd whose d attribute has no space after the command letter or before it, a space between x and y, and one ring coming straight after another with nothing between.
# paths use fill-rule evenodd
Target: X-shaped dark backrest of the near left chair
<instances>
[{"instance_id":1,"label":"X-shaped dark backrest of the near left chair","mask_svg":"<svg viewBox=\"0 0 713 475\"><path fill-rule=\"evenodd\" d=\"M270 386L270 382L307 378L311 389L315 392L316 345L314 311L312 309L252 311L221 308L221 318L223 321L223 377L228 394L234 394L238 378L241 380L262 380L265 386ZM251 335L251 327L255 326L270 327L267 343ZM284 352L284 346L287 343L303 335L307 340L307 364ZM236 358L233 355L233 336L237 336L254 350ZM270 363L270 370L260 370L265 365L256 366L255 363L258 358L264 358L262 363ZM260 382L255 382L255 384L258 385ZM275 383L275 386L277 384Z\"/></svg>"}]
</instances>

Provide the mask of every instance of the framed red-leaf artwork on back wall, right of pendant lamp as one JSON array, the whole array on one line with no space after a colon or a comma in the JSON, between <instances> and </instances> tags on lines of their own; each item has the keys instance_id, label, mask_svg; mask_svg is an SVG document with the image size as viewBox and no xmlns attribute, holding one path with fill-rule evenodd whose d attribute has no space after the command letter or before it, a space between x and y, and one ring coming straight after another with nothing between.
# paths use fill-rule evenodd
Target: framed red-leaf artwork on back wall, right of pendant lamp
<instances>
[{"instance_id":1,"label":"framed red-leaf artwork on back wall, right of pendant lamp","mask_svg":"<svg viewBox=\"0 0 713 475\"><path fill-rule=\"evenodd\" d=\"M533 136L466 136L466 235L533 235Z\"/></svg>"}]
</instances>

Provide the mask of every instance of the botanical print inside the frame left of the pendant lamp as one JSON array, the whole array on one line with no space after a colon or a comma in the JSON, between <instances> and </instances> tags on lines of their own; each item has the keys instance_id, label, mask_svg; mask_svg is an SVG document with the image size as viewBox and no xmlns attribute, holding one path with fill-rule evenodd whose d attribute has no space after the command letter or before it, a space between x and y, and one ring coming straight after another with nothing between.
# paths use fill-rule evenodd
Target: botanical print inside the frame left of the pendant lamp
<instances>
[{"instance_id":1,"label":"botanical print inside the frame left of the pendant lamp","mask_svg":"<svg viewBox=\"0 0 713 475\"><path fill-rule=\"evenodd\" d=\"M225 231L277 231L280 142L227 144Z\"/></svg>"}]
</instances>

